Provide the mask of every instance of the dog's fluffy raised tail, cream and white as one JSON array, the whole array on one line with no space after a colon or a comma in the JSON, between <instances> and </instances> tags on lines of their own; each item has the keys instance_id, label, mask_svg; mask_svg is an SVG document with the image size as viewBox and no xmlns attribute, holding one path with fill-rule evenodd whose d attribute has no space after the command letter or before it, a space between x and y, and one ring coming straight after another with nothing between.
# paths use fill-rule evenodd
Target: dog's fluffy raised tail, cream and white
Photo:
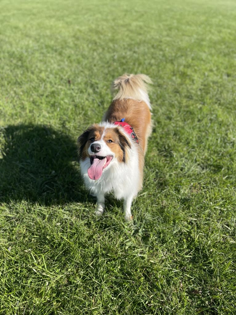
<instances>
[{"instance_id":1,"label":"dog's fluffy raised tail, cream and white","mask_svg":"<svg viewBox=\"0 0 236 315\"><path fill-rule=\"evenodd\" d=\"M123 74L113 82L113 90L118 89L113 100L124 98L143 100L151 109L148 96L149 83L152 83L152 80L145 74Z\"/></svg>"}]
</instances>

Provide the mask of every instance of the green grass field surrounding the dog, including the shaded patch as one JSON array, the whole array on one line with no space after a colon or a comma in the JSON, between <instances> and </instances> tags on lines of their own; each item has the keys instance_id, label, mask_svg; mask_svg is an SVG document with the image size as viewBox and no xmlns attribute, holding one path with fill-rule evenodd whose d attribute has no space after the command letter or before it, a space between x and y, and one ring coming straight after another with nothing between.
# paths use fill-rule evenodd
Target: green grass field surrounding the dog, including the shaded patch
<instances>
[{"instance_id":1,"label":"green grass field surrounding the dog, including the shaded patch","mask_svg":"<svg viewBox=\"0 0 236 315\"><path fill-rule=\"evenodd\" d=\"M236 314L236 3L0 2L0 314ZM153 79L143 191L101 218L76 139Z\"/></svg>"}]
</instances>

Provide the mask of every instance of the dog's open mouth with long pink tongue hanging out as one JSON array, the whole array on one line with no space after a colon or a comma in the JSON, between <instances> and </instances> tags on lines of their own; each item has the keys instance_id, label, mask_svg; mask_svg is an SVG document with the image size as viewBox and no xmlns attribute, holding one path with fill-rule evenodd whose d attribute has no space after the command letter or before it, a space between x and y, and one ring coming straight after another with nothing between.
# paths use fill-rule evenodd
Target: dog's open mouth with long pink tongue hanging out
<instances>
[{"instance_id":1,"label":"dog's open mouth with long pink tongue hanging out","mask_svg":"<svg viewBox=\"0 0 236 315\"><path fill-rule=\"evenodd\" d=\"M112 155L102 157L100 155L91 155L90 164L88 169L88 177L93 180L98 180L102 176L103 170L110 164L113 159Z\"/></svg>"}]
</instances>

